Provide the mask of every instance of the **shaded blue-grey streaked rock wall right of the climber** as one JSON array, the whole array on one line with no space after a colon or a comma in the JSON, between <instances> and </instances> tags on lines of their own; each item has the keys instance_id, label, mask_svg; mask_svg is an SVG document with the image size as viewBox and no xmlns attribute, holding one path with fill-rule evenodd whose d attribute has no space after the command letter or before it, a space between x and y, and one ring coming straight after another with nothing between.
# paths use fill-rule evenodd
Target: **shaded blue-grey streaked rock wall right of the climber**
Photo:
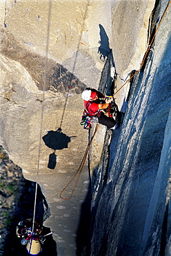
<instances>
[{"instance_id":1,"label":"shaded blue-grey streaked rock wall right of the climber","mask_svg":"<svg viewBox=\"0 0 171 256\"><path fill-rule=\"evenodd\" d=\"M155 8L161 19L168 1ZM88 255L170 255L170 8L97 172ZM97 239L98 237L98 239Z\"/></svg>"}]
</instances>

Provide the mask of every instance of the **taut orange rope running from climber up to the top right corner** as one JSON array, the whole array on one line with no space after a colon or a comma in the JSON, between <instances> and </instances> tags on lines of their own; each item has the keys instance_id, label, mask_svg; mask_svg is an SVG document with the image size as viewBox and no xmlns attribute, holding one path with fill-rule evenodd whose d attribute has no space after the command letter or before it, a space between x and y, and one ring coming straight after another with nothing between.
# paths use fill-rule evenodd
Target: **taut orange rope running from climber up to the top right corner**
<instances>
[{"instance_id":1,"label":"taut orange rope running from climber up to the top right corner","mask_svg":"<svg viewBox=\"0 0 171 256\"><path fill-rule=\"evenodd\" d=\"M149 44L147 50L145 51L145 55L143 56L143 60L142 60L142 62L141 62L141 64L140 64L139 70L137 70L137 71L136 71L136 72L135 72L135 73L117 90L117 91L116 91L116 93L113 94L113 97L114 97L114 95L116 95L116 94L123 88L123 86L125 86L125 84L127 84L128 82L130 82L130 80L132 80L132 78L134 77L134 75L136 75L137 73L139 73L140 69L142 68L142 66L143 66L143 64L144 64L144 62L145 62L145 58L147 57L147 55L148 55L148 53L149 53L149 51L150 51L150 48L151 48L151 46L152 46L152 43L154 42L154 38L155 38L155 36L157 35L157 31L159 30L159 27L160 27L160 25L161 25L161 21L163 21L163 18L165 17L166 12L168 11L168 8L169 8L169 6L170 6L170 2L171 2L171 1L168 2L168 6L165 8L165 11L163 12L163 15L162 15L162 17L161 17L161 20L159 21L159 24L158 24L158 26L157 26L157 29L156 29L156 31L155 31L155 33L154 33L154 36L152 37L152 40L151 40L151 42L150 42L150 44Z\"/></svg>"}]
</instances>

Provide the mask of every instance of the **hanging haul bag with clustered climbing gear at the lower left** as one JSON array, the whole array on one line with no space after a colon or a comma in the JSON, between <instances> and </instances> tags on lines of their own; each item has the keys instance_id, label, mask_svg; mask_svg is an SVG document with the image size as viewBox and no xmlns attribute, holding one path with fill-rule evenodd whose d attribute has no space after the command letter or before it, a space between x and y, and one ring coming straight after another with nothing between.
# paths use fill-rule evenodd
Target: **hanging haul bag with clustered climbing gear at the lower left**
<instances>
[{"instance_id":1,"label":"hanging haul bag with clustered climbing gear at the lower left","mask_svg":"<svg viewBox=\"0 0 171 256\"><path fill-rule=\"evenodd\" d=\"M32 232L32 219L20 221L17 226L17 237L22 238L21 244L26 245L26 249L30 255L38 255L42 251L42 244L46 240L45 237L52 235L52 232L42 235L43 227L34 221L34 230Z\"/></svg>"}]
</instances>

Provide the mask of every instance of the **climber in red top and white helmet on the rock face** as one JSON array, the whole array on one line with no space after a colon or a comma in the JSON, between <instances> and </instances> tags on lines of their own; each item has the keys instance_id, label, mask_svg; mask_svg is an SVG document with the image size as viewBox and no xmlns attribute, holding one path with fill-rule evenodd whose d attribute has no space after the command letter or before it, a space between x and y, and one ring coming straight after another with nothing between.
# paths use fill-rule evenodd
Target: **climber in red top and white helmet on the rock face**
<instances>
[{"instance_id":1,"label":"climber in red top and white helmet on the rock face","mask_svg":"<svg viewBox=\"0 0 171 256\"><path fill-rule=\"evenodd\" d=\"M102 93L96 89L86 89L82 93L82 98L84 100L84 113L86 116L93 118L98 118L101 125L105 125L110 129L116 129L116 121L110 113L110 106L113 98L106 98ZM108 116L106 116L106 114Z\"/></svg>"}]
</instances>

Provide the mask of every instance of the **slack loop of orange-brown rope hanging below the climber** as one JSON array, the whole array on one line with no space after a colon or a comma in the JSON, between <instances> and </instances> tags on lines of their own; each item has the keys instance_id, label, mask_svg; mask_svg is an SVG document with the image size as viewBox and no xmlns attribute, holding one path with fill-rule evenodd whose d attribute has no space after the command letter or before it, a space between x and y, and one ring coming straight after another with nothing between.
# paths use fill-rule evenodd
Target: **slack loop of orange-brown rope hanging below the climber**
<instances>
[{"instance_id":1,"label":"slack loop of orange-brown rope hanging below the climber","mask_svg":"<svg viewBox=\"0 0 171 256\"><path fill-rule=\"evenodd\" d=\"M93 136L92 136L92 138L91 138L91 140L90 140L90 143L88 143L88 146L87 146L87 148L86 148L86 152L85 152L85 154L84 154L84 156L83 156L83 159L82 159L82 161L81 161L81 164L79 165L79 169L78 169L77 172L74 174L74 176L72 177L72 179L68 182L68 184L66 185L66 187L63 188L63 190L62 190L61 193L59 194L59 196L61 197L61 199L64 199L64 200L69 200L69 199L71 199L72 194L74 193L74 190L75 190L75 188L76 188L76 186L77 186L77 183L78 183L78 181L79 181L79 177L80 177L81 172L82 172L82 170L83 170L83 165L84 165L84 163L85 163L85 161L86 161L86 157L87 157L87 155L88 155L88 151L89 151L90 146L91 146L91 144L92 144L92 140L93 140L95 134L97 133L98 127L99 127L99 124L97 124L97 126L96 126L96 128L95 128L95 130L94 130L94 134L93 134ZM76 181L75 184L74 184L74 188L73 188L73 190L72 190L72 192L71 192L70 197L65 198L65 197L61 196L61 194L63 193L63 191L66 190L66 188L68 188L68 186L69 186L70 183L74 180L74 177L77 176L77 174L79 174L79 175L78 175L77 181Z\"/></svg>"}]
</instances>

